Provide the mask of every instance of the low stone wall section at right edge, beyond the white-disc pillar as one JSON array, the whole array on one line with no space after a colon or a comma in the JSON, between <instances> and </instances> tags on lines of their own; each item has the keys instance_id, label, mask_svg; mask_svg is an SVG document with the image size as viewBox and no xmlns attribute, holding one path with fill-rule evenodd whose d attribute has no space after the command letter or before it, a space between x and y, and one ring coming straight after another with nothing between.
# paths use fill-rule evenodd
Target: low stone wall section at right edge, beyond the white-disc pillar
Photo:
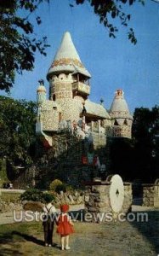
<instances>
[{"instance_id":1,"label":"low stone wall section at right edge, beyond the white-disc pillar","mask_svg":"<svg viewBox=\"0 0 159 256\"><path fill-rule=\"evenodd\" d=\"M143 207L159 207L159 184L143 184Z\"/></svg>"}]
</instances>

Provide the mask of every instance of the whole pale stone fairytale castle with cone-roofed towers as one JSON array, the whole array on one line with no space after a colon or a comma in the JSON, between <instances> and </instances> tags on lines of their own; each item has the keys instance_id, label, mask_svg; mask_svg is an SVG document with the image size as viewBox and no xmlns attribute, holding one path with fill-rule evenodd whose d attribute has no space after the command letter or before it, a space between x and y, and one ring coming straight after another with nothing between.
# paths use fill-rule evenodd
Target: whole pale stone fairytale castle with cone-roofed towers
<instances>
[{"instance_id":1,"label":"whole pale stone fairytale castle with cone-roofed towers","mask_svg":"<svg viewBox=\"0 0 159 256\"><path fill-rule=\"evenodd\" d=\"M91 75L82 64L72 40L65 32L60 49L48 69L49 99L43 80L37 89L37 136L46 147L53 147L54 135L70 131L72 136L104 147L108 137L131 138L133 116L129 113L123 91L116 95L109 111L91 102Z\"/></svg>"}]
</instances>

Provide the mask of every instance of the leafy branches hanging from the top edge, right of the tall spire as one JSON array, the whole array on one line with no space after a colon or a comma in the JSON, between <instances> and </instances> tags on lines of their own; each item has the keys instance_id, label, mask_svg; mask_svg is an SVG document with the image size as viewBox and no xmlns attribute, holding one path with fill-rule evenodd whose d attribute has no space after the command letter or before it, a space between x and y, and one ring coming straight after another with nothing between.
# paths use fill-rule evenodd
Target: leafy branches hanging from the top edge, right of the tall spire
<instances>
[{"instance_id":1,"label":"leafy branches hanging from the top edge, right of the tall spire","mask_svg":"<svg viewBox=\"0 0 159 256\"><path fill-rule=\"evenodd\" d=\"M77 4L82 4L84 2L90 3L90 5L94 8L94 14L99 16L99 22L102 23L109 32L110 38L116 38L116 32L118 32L118 28L114 26L113 20L119 19L121 21L122 26L128 27L128 21L131 19L131 15L126 14L123 10L124 5L131 6L135 3L135 0L76 0ZM139 0L139 3L145 4L145 0ZM73 7L73 5L71 5ZM137 39L135 38L133 28L129 28L128 30L128 39L132 44L137 43Z\"/></svg>"}]
</instances>

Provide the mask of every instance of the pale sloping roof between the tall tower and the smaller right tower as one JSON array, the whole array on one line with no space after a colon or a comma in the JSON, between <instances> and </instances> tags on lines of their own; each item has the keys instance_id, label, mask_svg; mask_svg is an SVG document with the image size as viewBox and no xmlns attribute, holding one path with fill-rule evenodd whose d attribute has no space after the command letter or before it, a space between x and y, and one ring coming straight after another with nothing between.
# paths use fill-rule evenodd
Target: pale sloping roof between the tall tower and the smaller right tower
<instances>
[{"instance_id":1,"label":"pale sloping roof between the tall tower and the smaller right tower","mask_svg":"<svg viewBox=\"0 0 159 256\"><path fill-rule=\"evenodd\" d=\"M84 107L86 108L87 113L99 116L101 118L111 119L109 113L107 113L106 109L101 104L86 100Z\"/></svg>"}]
</instances>

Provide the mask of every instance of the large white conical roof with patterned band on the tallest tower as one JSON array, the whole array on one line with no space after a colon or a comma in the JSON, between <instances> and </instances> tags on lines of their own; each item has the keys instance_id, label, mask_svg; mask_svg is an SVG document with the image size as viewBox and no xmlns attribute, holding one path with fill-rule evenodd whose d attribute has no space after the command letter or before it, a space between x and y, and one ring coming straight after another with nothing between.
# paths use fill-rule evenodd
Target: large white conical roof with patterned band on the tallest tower
<instances>
[{"instance_id":1,"label":"large white conical roof with patterned band on the tallest tower","mask_svg":"<svg viewBox=\"0 0 159 256\"><path fill-rule=\"evenodd\" d=\"M88 70L82 65L82 61L77 54L70 32L65 32L60 48L58 49L51 67L48 69L47 79L53 74L58 73L82 73L84 76L90 78L91 75Z\"/></svg>"}]
</instances>

